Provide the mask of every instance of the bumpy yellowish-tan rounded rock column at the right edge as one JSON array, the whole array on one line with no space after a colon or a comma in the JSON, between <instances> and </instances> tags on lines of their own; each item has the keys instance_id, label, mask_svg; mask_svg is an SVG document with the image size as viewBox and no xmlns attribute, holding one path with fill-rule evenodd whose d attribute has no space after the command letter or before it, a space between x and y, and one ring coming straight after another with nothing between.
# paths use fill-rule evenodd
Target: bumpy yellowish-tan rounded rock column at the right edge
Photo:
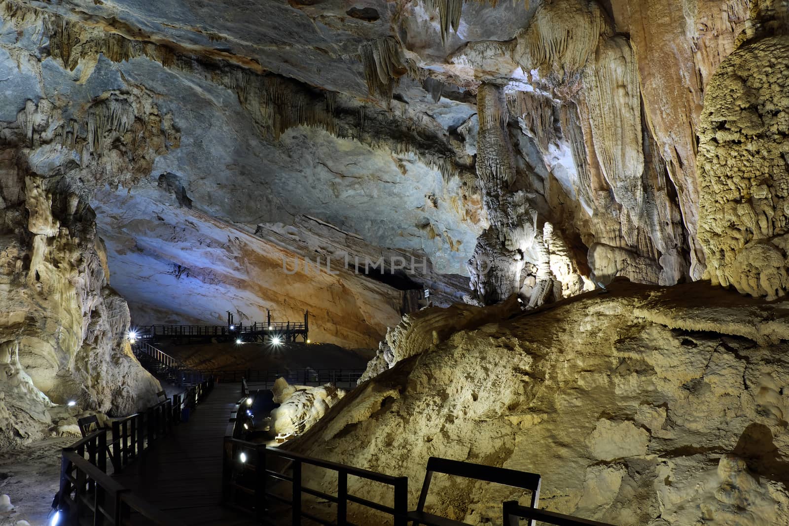
<instances>
[{"instance_id":1,"label":"bumpy yellowish-tan rounded rock column at the right edge","mask_svg":"<svg viewBox=\"0 0 789 526\"><path fill-rule=\"evenodd\" d=\"M789 289L787 59L789 35L739 47L712 77L699 134L709 275L770 299Z\"/></svg>"}]
</instances>

